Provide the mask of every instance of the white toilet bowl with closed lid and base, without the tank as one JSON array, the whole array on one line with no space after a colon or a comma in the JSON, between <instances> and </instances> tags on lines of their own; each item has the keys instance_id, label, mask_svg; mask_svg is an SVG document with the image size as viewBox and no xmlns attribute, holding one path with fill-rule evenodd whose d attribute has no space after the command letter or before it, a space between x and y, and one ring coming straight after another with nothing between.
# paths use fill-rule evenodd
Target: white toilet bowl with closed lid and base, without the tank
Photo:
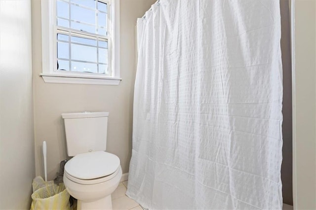
<instances>
[{"instance_id":1,"label":"white toilet bowl with closed lid and base, without the tank","mask_svg":"<svg viewBox=\"0 0 316 210\"><path fill-rule=\"evenodd\" d=\"M65 165L64 184L78 209L112 209L111 194L122 176L116 155L95 151L79 154Z\"/></svg>"}]
</instances>

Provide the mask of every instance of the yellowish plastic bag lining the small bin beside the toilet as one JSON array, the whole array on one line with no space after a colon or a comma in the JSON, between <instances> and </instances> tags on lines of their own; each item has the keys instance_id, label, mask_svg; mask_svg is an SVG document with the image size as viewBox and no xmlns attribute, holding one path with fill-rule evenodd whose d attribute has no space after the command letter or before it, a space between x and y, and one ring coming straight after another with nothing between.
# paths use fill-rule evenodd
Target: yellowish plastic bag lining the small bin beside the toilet
<instances>
[{"instance_id":1,"label":"yellowish plastic bag lining the small bin beside the toilet","mask_svg":"<svg viewBox=\"0 0 316 210\"><path fill-rule=\"evenodd\" d=\"M69 193L63 183L44 181L37 176L33 179L31 210L70 210Z\"/></svg>"}]
</instances>

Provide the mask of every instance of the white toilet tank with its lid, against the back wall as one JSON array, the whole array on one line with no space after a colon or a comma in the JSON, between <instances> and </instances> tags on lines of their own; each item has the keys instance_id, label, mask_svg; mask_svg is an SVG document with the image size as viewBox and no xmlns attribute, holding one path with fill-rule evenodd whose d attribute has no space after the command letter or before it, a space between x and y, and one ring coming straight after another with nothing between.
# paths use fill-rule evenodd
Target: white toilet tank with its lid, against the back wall
<instances>
[{"instance_id":1,"label":"white toilet tank with its lid, against the back wall","mask_svg":"<svg viewBox=\"0 0 316 210\"><path fill-rule=\"evenodd\" d=\"M109 112L64 113L67 154L75 156L107 148Z\"/></svg>"}]
</instances>

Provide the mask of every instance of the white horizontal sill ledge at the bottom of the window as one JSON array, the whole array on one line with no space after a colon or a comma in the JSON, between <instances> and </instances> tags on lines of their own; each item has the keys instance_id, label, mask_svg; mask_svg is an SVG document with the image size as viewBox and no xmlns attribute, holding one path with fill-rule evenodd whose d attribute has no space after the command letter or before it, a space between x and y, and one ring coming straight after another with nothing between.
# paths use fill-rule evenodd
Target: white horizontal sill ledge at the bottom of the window
<instances>
[{"instance_id":1,"label":"white horizontal sill ledge at the bottom of the window","mask_svg":"<svg viewBox=\"0 0 316 210\"><path fill-rule=\"evenodd\" d=\"M41 73L46 83L90 84L90 85L118 85L121 78L98 75L69 75L57 73Z\"/></svg>"}]
</instances>

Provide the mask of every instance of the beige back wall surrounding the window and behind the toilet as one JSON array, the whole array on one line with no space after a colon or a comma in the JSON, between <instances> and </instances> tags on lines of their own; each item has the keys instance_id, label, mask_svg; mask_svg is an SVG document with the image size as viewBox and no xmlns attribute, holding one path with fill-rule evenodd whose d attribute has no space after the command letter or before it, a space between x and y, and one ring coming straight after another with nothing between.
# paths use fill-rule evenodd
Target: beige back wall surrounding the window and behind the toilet
<instances>
[{"instance_id":1,"label":"beige back wall surrounding the window and behind the toilet","mask_svg":"<svg viewBox=\"0 0 316 210\"><path fill-rule=\"evenodd\" d=\"M43 175L41 145L47 142L48 179L55 178L59 162L67 158L61 113L108 111L107 151L118 155L128 172L132 142L132 105L135 78L135 23L155 0L120 1L120 73L118 86L45 83L41 73L40 1L32 1L34 122L36 175Z\"/></svg>"}]
</instances>

